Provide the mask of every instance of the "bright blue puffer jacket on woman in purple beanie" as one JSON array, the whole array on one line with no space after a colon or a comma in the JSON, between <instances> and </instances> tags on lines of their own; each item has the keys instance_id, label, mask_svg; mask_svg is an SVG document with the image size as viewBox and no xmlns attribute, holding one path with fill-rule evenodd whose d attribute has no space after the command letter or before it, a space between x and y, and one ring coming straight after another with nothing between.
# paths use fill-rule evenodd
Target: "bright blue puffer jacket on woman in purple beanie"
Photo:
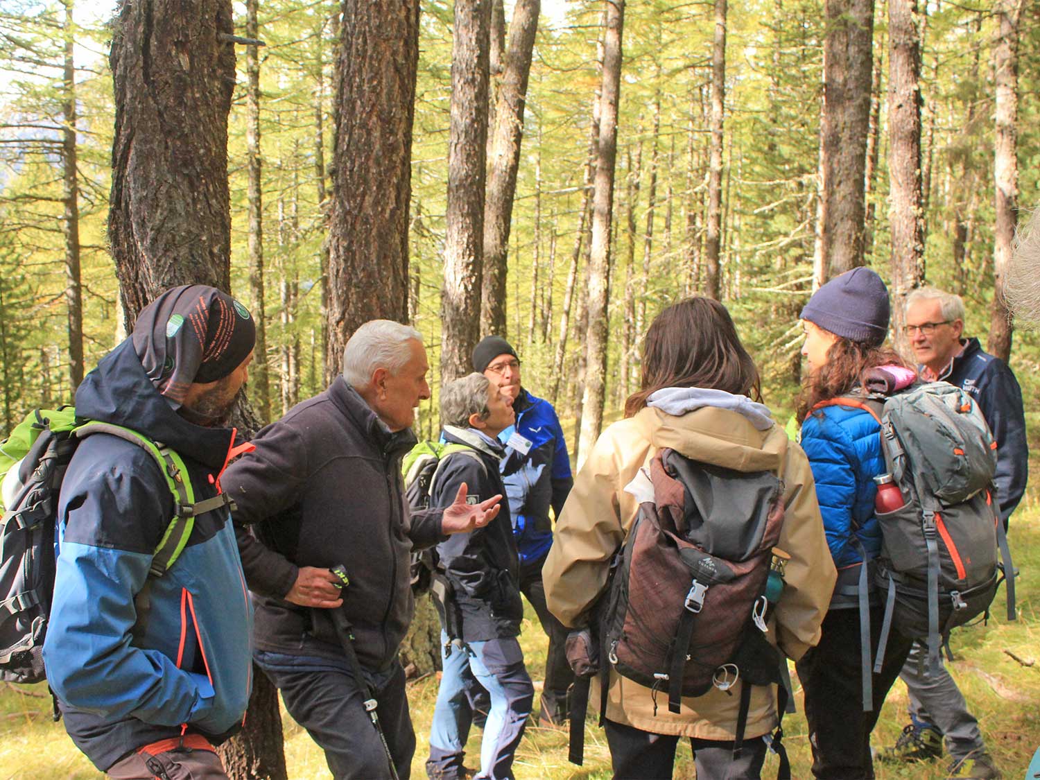
<instances>
[{"instance_id":1,"label":"bright blue puffer jacket on woman in purple beanie","mask_svg":"<svg viewBox=\"0 0 1040 780\"><path fill-rule=\"evenodd\" d=\"M856 407L823 407L802 423L802 448L812 467L827 544L839 578L842 569L863 560L854 536L867 560L881 551L881 527L874 516L878 492L874 477L885 471L880 431L874 416Z\"/></svg>"}]
</instances>

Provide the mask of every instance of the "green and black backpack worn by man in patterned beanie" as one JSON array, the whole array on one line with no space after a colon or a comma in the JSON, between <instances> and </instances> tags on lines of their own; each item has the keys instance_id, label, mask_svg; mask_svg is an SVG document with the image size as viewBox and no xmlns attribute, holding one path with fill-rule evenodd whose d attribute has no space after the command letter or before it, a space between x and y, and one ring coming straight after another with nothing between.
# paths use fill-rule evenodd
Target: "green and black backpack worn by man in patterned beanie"
<instances>
[{"instance_id":1,"label":"green and black backpack worn by man in patterned beanie","mask_svg":"<svg viewBox=\"0 0 1040 780\"><path fill-rule=\"evenodd\" d=\"M134 598L135 635L144 631L148 620L151 583L181 554L196 515L232 506L224 493L197 502L181 457L144 434L83 420L73 407L37 409L26 415L0 442L0 681L28 683L46 678L43 648L54 592L58 494L73 453L92 434L116 436L151 454L174 496L174 518L155 548L149 578Z\"/></svg>"}]
</instances>

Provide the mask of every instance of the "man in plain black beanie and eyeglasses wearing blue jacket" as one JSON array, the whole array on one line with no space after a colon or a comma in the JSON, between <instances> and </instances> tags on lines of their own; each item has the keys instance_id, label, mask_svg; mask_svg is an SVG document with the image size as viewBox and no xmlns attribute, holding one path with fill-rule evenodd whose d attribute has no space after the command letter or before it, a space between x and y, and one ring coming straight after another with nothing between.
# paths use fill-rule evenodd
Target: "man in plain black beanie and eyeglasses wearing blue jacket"
<instances>
[{"instance_id":1,"label":"man in plain black beanie and eyeglasses wearing blue jacket","mask_svg":"<svg viewBox=\"0 0 1040 780\"><path fill-rule=\"evenodd\" d=\"M510 501L513 538L520 557L520 591L549 636L539 724L562 725L568 717L567 691L574 681L564 645L567 629L545 604L542 566L552 546L553 517L560 517L574 479L564 432L552 405L520 385L520 359L501 336L488 336L473 348L473 368L513 399L517 420L498 438L505 445L502 482Z\"/></svg>"}]
</instances>

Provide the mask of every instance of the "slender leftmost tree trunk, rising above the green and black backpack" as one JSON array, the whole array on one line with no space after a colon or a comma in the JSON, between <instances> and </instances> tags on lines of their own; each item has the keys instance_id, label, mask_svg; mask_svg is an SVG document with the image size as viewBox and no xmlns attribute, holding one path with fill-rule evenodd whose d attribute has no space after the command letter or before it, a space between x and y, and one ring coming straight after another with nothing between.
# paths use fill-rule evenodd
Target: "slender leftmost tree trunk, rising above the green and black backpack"
<instances>
[{"instance_id":1,"label":"slender leftmost tree trunk, rising above the green and black backpack","mask_svg":"<svg viewBox=\"0 0 1040 780\"><path fill-rule=\"evenodd\" d=\"M79 272L79 175L76 170L76 62L73 58L73 0L64 4L64 72L61 85L61 200L66 244L66 307L69 322L69 383L83 381L83 287Z\"/></svg>"}]
</instances>

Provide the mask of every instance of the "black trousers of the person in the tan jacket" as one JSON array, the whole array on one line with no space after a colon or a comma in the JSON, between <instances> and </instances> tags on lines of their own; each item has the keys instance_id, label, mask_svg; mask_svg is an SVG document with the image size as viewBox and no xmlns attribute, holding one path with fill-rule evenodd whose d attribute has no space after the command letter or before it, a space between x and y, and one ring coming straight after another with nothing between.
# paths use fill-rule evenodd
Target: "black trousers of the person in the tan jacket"
<instances>
[{"instance_id":1,"label":"black trousers of the person in the tan jacket","mask_svg":"<svg viewBox=\"0 0 1040 780\"><path fill-rule=\"evenodd\" d=\"M679 737L606 721L606 744L615 780L671 780ZM733 760L733 743L690 739L697 780L758 780L765 762L765 740L745 739Z\"/></svg>"}]
</instances>

